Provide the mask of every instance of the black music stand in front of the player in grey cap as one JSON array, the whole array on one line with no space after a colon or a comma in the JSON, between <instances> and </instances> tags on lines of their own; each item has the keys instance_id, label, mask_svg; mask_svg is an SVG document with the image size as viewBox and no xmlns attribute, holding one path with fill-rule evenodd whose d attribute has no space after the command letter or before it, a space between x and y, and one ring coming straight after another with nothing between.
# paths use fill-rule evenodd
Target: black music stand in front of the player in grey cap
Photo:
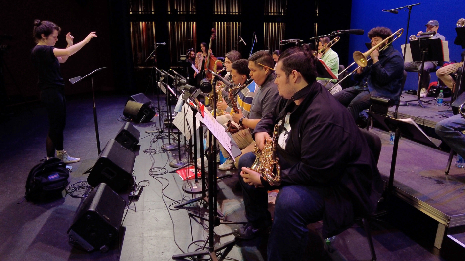
<instances>
[{"instance_id":1,"label":"black music stand in front of the player in grey cap","mask_svg":"<svg viewBox=\"0 0 465 261\"><path fill-rule=\"evenodd\" d=\"M424 105L420 100L421 78L424 74L424 62L444 61L442 41L441 39L429 39L429 38L419 37L418 40L410 41L410 51L412 52L413 61L421 61L421 70L420 70L420 76L418 79L417 99L409 100L405 102L417 101L419 105L424 108Z\"/></svg>"}]
</instances>

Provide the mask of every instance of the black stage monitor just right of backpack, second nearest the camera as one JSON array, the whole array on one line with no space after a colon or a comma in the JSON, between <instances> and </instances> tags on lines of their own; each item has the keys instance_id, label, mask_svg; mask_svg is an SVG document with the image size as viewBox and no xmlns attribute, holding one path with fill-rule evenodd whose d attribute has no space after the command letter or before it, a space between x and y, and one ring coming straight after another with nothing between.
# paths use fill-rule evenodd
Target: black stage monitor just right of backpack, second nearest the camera
<instances>
[{"instance_id":1,"label":"black stage monitor just right of backpack, second nearest the camera","mask_svg":"<svg viewBox=\"0 0 465 261\"><path fill-rule=\"evenodd\" d=\"M109 140L98 155L87 183L96 187L104 182L116 192L124 191L134 183L132 172L135 160L136 155L131 150L115 140Z\"/></svg>"}]
</instances>

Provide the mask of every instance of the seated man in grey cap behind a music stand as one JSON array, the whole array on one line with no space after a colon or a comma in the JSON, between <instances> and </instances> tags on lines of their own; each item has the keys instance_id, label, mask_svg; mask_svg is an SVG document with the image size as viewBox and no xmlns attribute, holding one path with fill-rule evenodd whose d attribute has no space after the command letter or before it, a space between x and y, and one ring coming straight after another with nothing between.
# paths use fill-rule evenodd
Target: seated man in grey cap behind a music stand
<instances>
[{"instance_id":1,"label":"seated man in grey cap behind a music stand","mask_svg":"<svg viewBox=\"0 0 465 261\"><path fill-rule=\"evenodd\" d=\"M430 39L441 39L443 41L446 40L446 37L438 33L439 29L439 22L437 20L429 20L428 23L425 25L426 26L426 32L436 32L436 34ZM420 34L423 33L423 31L419 31L417 33L417 36L420 36ZM428 89L429 86L429 81L431 79L431 76L429 73L436 69L438 65L438 61L426 61L424 62L424 68L423 68L423 75L421 75L421 88L423 90ZM404 64L404 79L403 82L407 79L407 72L420 72L421 71L421 62L406 62Z\"/></svg>"}]
</instances>

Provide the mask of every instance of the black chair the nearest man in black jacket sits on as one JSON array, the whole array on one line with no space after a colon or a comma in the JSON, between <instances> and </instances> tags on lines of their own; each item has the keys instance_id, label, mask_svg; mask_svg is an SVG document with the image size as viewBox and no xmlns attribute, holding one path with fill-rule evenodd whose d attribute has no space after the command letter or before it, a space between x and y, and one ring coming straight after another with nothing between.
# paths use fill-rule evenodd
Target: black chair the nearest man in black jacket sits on
<instances>
[{"instance_id":1,"label":"black chair the nearest man in black jacket sits on","mask_svg":"<svg viewBox=\"0 0 465 261\"><path fill-rule=\"evenodd\" d=\"M365 139L367 140L368 147L372 151L374 159L376 160L376 164L378 164L379 155L381 153L381 139L378 135L369 132L368 130L360 129L360 132L363 134ZM367 234L368 244L370 246L370 253L372 254L372 261L376 261L376 252L374 251L373 239L372 239L372 230L370 228L370 220L372 219L372 215L362 217L363 227L365 229L365 233Z\"/></svg>"}]
</instances>

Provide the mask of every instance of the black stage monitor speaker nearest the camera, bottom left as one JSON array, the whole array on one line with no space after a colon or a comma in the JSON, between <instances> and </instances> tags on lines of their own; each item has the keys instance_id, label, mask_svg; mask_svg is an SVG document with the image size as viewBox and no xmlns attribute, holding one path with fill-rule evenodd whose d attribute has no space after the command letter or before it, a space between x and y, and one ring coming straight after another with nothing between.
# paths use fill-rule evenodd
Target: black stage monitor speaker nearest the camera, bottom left
<instances>
[{"instance_id":1,"label":"black stage monitor speaker nearest the camera, bottom left","mask_svg":"<svg viewBox=\"0 0 465 261\"><path fill-rule=\"evenodd\" d=\"M118 240L126 202L105 183L100 183L76 211L68 229L69 241L87 251L106 252Z\"/></svg>"}]
</instances>

